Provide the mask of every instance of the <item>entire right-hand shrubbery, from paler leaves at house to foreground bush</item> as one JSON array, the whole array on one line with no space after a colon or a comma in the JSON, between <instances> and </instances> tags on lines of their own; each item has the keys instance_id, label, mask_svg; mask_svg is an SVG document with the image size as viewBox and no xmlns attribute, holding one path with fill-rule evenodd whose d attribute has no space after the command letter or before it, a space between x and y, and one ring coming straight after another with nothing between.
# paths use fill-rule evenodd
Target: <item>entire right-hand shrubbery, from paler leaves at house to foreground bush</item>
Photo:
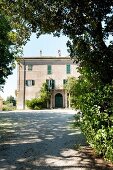
<instances>
[{"instance_id":1,"label":"entire right-hand shrubbery, from paler leaves at house to foreground bush","mask_svg":"<svg viewBox=\"0 0 113 170\"><path fill-rule=\"evenodd\" d=\"M81 130L98 155L113 162L113 87L77 80L73 107L82 112Z\"/></svg>"}]
</instances>

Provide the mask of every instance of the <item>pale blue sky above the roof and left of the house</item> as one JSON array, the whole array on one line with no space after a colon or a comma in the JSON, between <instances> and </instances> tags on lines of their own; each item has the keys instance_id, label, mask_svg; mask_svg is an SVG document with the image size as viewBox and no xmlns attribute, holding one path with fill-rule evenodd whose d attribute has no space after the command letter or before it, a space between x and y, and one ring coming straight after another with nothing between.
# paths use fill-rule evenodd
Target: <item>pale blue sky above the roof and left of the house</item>
<instances>
[{"instance_id":1,"label":"pale blue sky above the roof and left of the house","mask_svg":"<svg viewBox=\"0 0 113 170\"><path fill-rule=\"evenodd\" d=\"M42 35L38 39L35 34L32 34L30 41L25 45L23 49L24 57L36 57L40 55L42 50L42 56L58 56L58 50L61 50L61 56L68 56L66 42L68 38L65 36L53 37L52 35ZM3 99L12 95L15 97L15 90L17 89L17 69L13 71L13 75L8 76L6 81L4 92L0 92Z\"/></svg>"}]
</instances>

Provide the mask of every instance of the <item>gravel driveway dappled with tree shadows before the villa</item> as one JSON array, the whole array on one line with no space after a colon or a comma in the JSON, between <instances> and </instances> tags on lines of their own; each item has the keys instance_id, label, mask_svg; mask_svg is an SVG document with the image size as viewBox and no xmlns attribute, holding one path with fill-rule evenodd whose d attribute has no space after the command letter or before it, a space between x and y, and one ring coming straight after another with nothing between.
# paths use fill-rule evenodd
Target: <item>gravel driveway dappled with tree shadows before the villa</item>
<instances>
[{"instance_id":1,"label":"gravel driveway dappled with tree shadows before the villa","mask_svg":"<svg viewBox=\"0 0 113 170\"><path fill-rule=\"evenodd\" d=\"M92 157L83 134L70 128L74 113L59 109L0 113L0 170L109 169Z\"/></svg>"}]
</instances>

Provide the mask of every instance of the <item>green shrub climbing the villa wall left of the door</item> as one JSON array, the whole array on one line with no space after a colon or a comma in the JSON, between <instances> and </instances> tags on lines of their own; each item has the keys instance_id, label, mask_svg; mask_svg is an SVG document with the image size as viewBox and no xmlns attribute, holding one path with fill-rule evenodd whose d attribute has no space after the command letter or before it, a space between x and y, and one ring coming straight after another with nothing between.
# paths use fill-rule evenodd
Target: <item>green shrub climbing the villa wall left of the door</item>
<instances>
[{"instance_id":1,"label":"green shrub climbing the villa wall left of the door","mask_svg":"<svg viewBox=\"0 0 113 170\"><path fill-rule=\"evenodd\" d=\"M48 86L46 83L43 83L40 90L40 97L34 98L31 100L26 100L26 105L28 108L33 110L40 110L47 108L47 103L50 100L50 92L48 91Z\"/></svg>"}]
</instances>

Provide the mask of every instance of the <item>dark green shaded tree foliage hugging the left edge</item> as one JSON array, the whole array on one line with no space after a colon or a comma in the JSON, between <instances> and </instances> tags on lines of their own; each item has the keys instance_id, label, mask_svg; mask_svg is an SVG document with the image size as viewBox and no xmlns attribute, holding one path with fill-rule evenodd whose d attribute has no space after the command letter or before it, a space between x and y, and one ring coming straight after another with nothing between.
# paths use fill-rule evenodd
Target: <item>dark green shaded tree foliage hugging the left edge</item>
<instances>
[{"instance_id":1,"label":"dark green shaded tree foliage hugging the left edge","mask_svg":"<svg viewBox=\"0 0 113 170\"><path fill-rule=\"evenodd\" d=\"M4 15L0 14L0 85L12 73L14 53L11 51L12 42L8 37L11 27Z\"/></svg>"}]
</instances>

